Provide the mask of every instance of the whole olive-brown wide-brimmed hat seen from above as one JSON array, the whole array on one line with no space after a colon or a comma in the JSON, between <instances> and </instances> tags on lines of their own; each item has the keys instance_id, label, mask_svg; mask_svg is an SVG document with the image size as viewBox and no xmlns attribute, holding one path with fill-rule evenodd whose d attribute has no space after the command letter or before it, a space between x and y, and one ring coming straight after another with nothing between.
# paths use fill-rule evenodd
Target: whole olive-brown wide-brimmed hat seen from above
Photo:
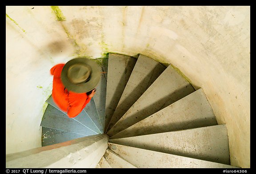
<instances>
[{"instance_id":1,"label":"whole olive-brown wide-brimmed hat seen from above","mask_svg":"<svg viewBox=\"0 0 256 174\"><path fill-rule=\"evenodd\" d=\"M64 65L60 78L68 90L87 93L99 83L100 68L88 58L74 58Z\"/></svg>"}]
</instances>

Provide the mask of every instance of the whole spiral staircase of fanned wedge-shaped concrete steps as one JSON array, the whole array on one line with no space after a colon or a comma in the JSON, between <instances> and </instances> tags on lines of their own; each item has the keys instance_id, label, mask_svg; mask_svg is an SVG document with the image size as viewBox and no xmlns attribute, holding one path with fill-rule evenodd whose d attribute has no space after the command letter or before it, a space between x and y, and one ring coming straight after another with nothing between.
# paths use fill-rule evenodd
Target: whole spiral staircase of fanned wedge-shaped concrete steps
<instances>
[{"instance_id":1,"label":"whole spiral staircase of fanned wedge-shaped concrete steps","mask_svg":"<svg viewBox=\"0 0 256 174\"><path fill-rule=\"evenodd\" d=\"M230 165L225 124L218 125L203 89L172 65L139 54L109 53L96 94L74 118L50 96L42 147L107 134L96 168L236 168Z\"/></svg>"}]
</instances>

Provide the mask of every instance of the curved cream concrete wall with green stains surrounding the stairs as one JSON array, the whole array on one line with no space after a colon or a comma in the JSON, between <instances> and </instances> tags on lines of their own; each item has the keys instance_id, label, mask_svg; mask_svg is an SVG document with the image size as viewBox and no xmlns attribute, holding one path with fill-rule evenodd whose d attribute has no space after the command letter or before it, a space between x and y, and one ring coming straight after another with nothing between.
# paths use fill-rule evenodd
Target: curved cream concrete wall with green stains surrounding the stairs
<instances>
[{"instance_id":1,"label":"curved cream concrete wall with green stains surrounding the stairs","mask_svg":"<svg viewBox=\"0 0 256 174\"><path fill-rule=\"evenodd\" d=\"M6 154L41 146L50 68L105 52L176 66L250 167L250 6L6 6Z\"/></svg>"}]
</instances>

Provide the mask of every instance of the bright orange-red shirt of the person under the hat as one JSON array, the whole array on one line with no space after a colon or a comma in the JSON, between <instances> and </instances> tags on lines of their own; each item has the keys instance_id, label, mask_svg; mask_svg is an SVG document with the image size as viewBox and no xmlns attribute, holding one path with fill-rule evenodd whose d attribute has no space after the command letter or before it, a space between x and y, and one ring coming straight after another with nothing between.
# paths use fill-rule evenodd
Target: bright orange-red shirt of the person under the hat
<instances>
[{"instance_id":1,"label":"bright orange-red shirt of the person under the hat","mask_svg":"<svg viewBox=\"0 0 256 174\"><path fill-rule=\"evenodd\" d=\"M83 110L91 98L86 93L75 93L65 88L60 79L64 65L57 64L50 70L53 75L52 99L62 111L67 113L68 117L72 118Z\"/></svg>"}]
</instances>

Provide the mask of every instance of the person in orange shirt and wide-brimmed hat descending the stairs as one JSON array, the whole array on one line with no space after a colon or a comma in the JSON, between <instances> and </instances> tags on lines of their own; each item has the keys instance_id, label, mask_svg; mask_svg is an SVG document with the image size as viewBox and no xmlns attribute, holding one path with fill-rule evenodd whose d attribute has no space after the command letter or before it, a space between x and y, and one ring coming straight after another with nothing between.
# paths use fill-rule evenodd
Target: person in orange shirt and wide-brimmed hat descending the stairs
<instances>
[{"instance_id":1,"label":"person in orange shirt and wide-brimmed hat descending the stairs","mask_svg":"<svg viewBox=\"0 0 256 174\"><path fill-rule=\"evenodd\" d=\"M53 75L52 99L69 118L80 114L96 92L100 70L88 58L74 58L50 70Z\"/></svg>"}]
</instances>

